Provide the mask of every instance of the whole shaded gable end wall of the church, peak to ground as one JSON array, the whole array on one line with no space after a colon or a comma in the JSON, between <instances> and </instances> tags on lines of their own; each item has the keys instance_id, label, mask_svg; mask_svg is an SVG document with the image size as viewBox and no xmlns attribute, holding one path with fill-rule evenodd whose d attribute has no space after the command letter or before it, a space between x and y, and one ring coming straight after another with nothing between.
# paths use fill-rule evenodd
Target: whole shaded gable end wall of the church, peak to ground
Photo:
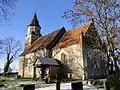
<instances>
[{"instance_id":1,"label":"whole shaded gable end wall of the church, peak to ground","mask_svg":"<svg viewBox=\"0 0 120 90\"><path fill-rule=\"evenodd\" d=\"M106 57L102 51L102 41L94 27L90 27L82 37L83 58L86 79L106 74Z\"/></svg>"}]
</instances>

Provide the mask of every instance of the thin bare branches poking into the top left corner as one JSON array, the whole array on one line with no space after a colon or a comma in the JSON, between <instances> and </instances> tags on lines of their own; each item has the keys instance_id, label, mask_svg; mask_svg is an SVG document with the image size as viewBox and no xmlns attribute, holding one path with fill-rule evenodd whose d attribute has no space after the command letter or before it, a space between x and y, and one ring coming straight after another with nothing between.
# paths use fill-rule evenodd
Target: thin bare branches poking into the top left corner
<instances>
[{"instance_id":1,"label":"thin bare branches poking into the top left corner","mask_svg":"<svg viewBox=\"0 0 120 90\"><path fill-rule=\"evenodd\" d=\"M0 0L0 21L8 20L13 15L12 9L17 0Z\"/></svg>"}]
</instances>

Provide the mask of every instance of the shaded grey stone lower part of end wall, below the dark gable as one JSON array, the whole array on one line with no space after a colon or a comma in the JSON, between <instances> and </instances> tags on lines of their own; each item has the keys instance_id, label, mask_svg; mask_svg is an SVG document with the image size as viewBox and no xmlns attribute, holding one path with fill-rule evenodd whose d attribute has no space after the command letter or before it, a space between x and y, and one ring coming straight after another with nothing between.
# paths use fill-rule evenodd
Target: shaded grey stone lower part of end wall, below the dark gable
<instances>
[{"instance_id":1,"label":"shaded grey stone lower part of end wall, below the dark gable","mask_svg":"<svg viewBox=\"0 0 120 90\"><path fill-rule=\"evenodd\" d=\"M106 58L104 53L98 49L89 48L87 45L83 52L86 79L105 76Z\"/></svg>"}]
</instances>

